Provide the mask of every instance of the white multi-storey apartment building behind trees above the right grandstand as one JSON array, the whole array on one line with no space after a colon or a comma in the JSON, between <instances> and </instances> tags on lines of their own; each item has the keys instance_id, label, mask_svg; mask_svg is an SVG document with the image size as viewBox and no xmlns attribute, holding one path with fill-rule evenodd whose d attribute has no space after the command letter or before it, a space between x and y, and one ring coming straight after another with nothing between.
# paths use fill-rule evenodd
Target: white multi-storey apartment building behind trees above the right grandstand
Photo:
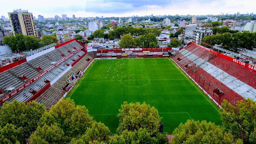
<instances>
[{"instance_id":1,"label":"white multi-storey apartment building behind trees above the right grandstand","mask_svg":"<svg viewBox=\"0 0 256 144\"><path fill-rule=\"evenodd\" d=\"M198 27L194 30L194 35L193 35L193 42L196 44L200 44L201 39L209 35L211 36L213 33L212 31L212 21L206 21L198 25Z\"/></svg>"}]
</instances>

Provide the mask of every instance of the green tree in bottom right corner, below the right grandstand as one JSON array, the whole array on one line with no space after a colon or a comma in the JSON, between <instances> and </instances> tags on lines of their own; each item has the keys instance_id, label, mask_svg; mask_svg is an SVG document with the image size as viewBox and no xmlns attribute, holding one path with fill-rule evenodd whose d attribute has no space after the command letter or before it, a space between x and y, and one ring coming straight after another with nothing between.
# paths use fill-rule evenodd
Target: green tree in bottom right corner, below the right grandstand
<instances>
[{"instance_id":1,"label":"green tree in bottom right corner, below the right grandstand","mask_svg":"<svg viewBox=\"0 0 256 144\"><path fill-rule=\"evenodd\" d=\"M256 103L251 99L244 99L236 102L235 107L224 100L221 106L220 115L224 130L235 138L242 139L245 144L255 144Z\"/></svg>"}]
</instances>

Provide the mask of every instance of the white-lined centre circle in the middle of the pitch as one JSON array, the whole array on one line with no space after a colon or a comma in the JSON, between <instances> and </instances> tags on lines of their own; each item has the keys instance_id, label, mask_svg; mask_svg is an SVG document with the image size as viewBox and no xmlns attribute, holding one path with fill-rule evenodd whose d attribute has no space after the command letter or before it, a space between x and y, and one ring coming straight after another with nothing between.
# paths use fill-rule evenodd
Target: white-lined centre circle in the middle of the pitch
<instances>
[{"instance_id":1,"label":"white-lined centre circle in the middle of the pitch","mask_svg":"<svg viewBox=\"0 0 256 144\"><path fill-rule=\"evenodd\" d=\"M129 87L141 87L141 86L148 85L149 82L150 82L150 79L148 77L140 74L130 74L120 79L120 83L122 85L129 86Z\"/></svg>"}]
</instances>

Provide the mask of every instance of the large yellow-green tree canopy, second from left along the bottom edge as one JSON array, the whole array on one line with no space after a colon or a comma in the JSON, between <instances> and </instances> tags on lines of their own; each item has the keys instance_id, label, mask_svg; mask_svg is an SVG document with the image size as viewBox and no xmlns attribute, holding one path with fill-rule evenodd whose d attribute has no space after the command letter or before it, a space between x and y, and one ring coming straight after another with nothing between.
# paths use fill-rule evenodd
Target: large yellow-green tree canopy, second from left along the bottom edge
<instances>
[{"instance_id":1,"label":"large yellow-green tree canopy, second from left along the bottom edge","mask_svg":"<svg viewBox=\"0 0 256 144\"><path fill-rule=\"evenodd\" d=\"M85 106L76 106L70 99L62 100L43 114L38 129L31 136L31 144L40 141L51 143L48 133L40 132L47 130L56 131L52 136L59 138L58 141L70 142L72 138L82 136L92 123L93 118L89 116Z\"/></svg>"}]
</instances>

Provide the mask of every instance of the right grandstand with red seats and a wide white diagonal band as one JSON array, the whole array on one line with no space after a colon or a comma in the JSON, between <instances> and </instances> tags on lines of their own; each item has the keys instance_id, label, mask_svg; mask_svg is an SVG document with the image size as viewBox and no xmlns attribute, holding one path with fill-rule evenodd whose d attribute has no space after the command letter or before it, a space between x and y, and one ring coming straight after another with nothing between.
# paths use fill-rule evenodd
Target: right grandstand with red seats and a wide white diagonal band
<instances>
[{"instance_id":1,"label":"right grandstand with red seats and a wide white diagonal band","mask_svg":"<svg viewBox=\"0 0 256 144\"><path fill-rule=\"evenodd\" d=\"M256 100L256 68L190 42L172 60L216 103Z\"/></svg>"}]
</instances>

